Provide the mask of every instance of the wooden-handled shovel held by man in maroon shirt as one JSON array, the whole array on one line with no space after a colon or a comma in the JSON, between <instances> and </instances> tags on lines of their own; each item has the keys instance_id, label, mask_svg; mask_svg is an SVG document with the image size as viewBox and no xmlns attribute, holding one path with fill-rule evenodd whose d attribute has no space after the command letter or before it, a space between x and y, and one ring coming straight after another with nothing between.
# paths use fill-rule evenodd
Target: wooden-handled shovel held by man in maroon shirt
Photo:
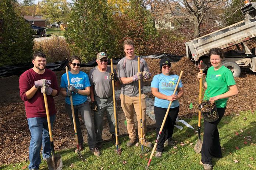
<instances>
[{"instance_id":1,"label":"wooden-handled shovel held by man in maroon shirt","mask_svg":"<svg viewBox=\"0 0 256 170\"><path fill-rule=\"evenodd\" d=\"M52 155L46 159L47 166L49 170L61 170L62 169L62 160L60 155L55 155L54 153L54 145L53 145L53 134L51 132L51 122L50 122L50 115L49 115L49 109L48 109L48 103L47 103L47 96L45 93L43 93L43 98L45 100L45 110L46 110L46 116L47 116L47 123L48 123L48 129L50 134L50 141L51 141L51 149L52 149Z\"/></svg>"}]
</instances>

